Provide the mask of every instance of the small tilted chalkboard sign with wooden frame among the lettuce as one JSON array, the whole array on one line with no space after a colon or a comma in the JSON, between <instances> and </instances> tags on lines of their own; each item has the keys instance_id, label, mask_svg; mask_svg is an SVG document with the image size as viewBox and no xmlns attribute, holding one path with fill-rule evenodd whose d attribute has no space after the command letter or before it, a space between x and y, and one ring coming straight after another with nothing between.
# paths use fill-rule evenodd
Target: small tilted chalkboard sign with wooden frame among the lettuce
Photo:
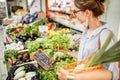
<instances>
[{"instance_id":1,"label":"small tilted chalkboard sign with wooden frame among the lettuce","mask_svg":"<svg viewBox=\"0 0 120 80\"><path fill-rule=\"evenodd\" d=\"M53 60L40 49L33 55L33 59L45 70L48 70L53 63Z\"/></svg>"}]
</instances>

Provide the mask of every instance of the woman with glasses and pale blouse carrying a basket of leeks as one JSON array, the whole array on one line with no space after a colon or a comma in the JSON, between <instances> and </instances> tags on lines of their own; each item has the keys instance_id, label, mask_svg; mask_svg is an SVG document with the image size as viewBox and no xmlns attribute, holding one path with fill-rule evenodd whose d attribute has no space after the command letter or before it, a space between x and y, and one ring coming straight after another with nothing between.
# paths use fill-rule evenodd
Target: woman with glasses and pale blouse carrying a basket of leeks
<instances>
[{"instance_id":1,"label":"woman with glasses and pale blouse carrying a basket of leeks","mask_svg":"<svg viewBox=\"0 0 120 80\"><path fill-rule=\"evenodd\" d=\"M99 21L98 17L104 13L105 0L74 0L74 14L80 22L84 23L85 31L80 41L78 61L88 59L92 53L104 44L107 36L111 32L105 22ZM115 43L115 38L111 40L109 47ZM74 80L118 80L117 63L105 64L105 69L85 72L80 74L73 73ZM67 80L66 76L70 75L66 70L61 69L57 73L60 80Z\"/></svg>"}]
</instances>

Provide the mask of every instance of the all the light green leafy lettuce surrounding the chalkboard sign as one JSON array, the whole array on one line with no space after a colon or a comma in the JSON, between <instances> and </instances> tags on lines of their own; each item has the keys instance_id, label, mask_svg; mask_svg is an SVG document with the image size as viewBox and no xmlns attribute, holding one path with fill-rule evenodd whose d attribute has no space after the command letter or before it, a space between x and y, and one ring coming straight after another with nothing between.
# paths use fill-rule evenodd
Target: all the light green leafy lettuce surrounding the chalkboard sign
<instances>
[{"instance_id":1,"label":"all the light green leafy lettuce surrounding the chalkboard sign","mask_svg":"<svg viewBox=\"0 0 120 80\"><path fill-rule=\"evenodd\" d=\"M63 65L76 61L76 59L68 56L63 52L58 52L54 48L54 44L55 45L57 44L57 45L67 45L67 47L66 46L64 47L68 49L68 46L70 44L69 40L70 39L67 34L54 34L44 39L37 39L35 41L26 42L26 47L30 50L30 52L34 53L38 48L41 48L50 58L53 58L55 60L55 63L48 71L43 70L41 67L39 68L39 72L43 80L58 80L56 74L57 69ZM60 44L60 42L64 44Z\"/></svg>"}]
</instances>

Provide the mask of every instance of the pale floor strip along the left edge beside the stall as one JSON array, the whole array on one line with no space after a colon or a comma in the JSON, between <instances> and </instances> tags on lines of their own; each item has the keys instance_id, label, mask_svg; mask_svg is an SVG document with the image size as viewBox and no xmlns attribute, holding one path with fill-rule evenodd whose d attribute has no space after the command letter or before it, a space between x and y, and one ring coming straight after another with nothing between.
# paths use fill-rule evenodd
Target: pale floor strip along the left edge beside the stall
<instances>
[{"instance_id":1,"label":"pale floor strip along the left edge beside the stall","mask_svg":"<svg viewBox=\"0 0 120 80\"><path fill-rule=\"evenodd\" d=\"M2 28L2 26L0 26L0 80L6 80L6 67L4 64L4 29Z\"/></svg>"}]
</instances>

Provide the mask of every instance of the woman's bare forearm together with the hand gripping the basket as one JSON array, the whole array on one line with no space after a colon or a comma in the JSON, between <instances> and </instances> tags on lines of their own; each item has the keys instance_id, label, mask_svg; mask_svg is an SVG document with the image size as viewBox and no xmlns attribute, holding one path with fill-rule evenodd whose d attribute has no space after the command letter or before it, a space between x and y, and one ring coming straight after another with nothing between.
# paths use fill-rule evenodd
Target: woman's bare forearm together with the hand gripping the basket
<instances>
[{"instance_id":1,"label":"woman's bare forearm together with the hand gripping the basket","mask_svg":"<svg viewBox=\"0 0 120 80\"><path fill-rule=\"evenodd\" d=\"M59 80L68 80L67 76L72 75L72 80L112 80L112 73L106 69L99 69L82 73L69 73L61 69L58 74Z\"/></svg>"}]
</instances>

